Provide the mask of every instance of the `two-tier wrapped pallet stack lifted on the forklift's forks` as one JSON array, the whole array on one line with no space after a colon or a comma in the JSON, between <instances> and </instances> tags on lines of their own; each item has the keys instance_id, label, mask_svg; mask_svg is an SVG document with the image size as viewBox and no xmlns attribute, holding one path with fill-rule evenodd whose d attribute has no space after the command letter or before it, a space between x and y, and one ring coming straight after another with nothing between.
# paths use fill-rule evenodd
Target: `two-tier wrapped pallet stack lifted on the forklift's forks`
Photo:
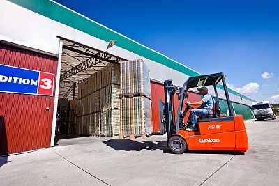
<instances>
[{"instance_id":1,"label":"two-tier wrapped pallet stack lifted on the forklift's forks","mask_svg":"<svg viewBox=\"0 0 279 186\"><path fill-rule=\"evenodd\" d=\"M144 138L153 132L149 69L142 59L124 61L121 71L120 138L137 135Z\"/></svg>"}]
</instances>

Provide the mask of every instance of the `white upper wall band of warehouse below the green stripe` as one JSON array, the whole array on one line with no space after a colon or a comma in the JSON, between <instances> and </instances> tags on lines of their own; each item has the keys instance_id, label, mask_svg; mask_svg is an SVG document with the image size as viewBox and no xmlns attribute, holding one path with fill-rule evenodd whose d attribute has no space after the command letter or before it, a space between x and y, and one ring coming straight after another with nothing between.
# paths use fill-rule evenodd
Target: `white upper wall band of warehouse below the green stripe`
<instances>
[{"instance_id":1,"label":"white upper wall band of warehouse below the green stripe","mask_svg":"<svg viewBox=\"0 0 279 186\"><path fill-rule=\"evenodd\" d=\"M52 54L59 54L59 38L57 36L68 38L103 51L107 48L108 43L103 40L73 29L65 24L50 20L43 15L33 13L31 10L17 6L9 1L1 0L0 7L0 40L40 49ZM174 85L182 86L183 82L188 79L188 75L117 46L112 47L110 53L130 60L144 59L150 70L151 79L159 82L172 79ZM218 93L221 98L225 98L222 90L218 90ZM229 93L229 95L234 102L252 104L248 100L240 100L238 95L232 93Z\"/></svg>"}]
</instances>

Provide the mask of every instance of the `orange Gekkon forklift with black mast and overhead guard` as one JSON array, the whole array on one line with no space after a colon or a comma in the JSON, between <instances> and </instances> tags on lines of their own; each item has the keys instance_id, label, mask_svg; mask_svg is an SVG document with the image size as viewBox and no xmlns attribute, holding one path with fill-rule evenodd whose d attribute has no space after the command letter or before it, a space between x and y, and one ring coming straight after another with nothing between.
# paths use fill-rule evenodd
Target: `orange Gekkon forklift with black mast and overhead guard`
<instances>
[{"instance_id":1,"label":"orange Gekkon forklift with black mast and overhead guard","mask_svg":"<svg viewBox=\"0 0 279 186\"><path fill-rule=\"evenodd\" d=\"M220 82L223 83L223 86L219 84ZM198 116L197 131L188 132L183 123L186 120L186 114L193 107L186 103L183 110L183 104L184 100L188 99L188 90L199 86L213 86L216 95L213 114ZM225 95L228 108L227 115L220 112L217 87L224 91L223 95ZM227 150L244 153L248 150L248 137L243 116L234 114L223 73L190 77L182 88L174 86L172 80L166 80L164 91L167 146L172 153L182 154L186 150ZM176 118L174 115L175 93L179 94Z\"/></svg>"}]
</instances>

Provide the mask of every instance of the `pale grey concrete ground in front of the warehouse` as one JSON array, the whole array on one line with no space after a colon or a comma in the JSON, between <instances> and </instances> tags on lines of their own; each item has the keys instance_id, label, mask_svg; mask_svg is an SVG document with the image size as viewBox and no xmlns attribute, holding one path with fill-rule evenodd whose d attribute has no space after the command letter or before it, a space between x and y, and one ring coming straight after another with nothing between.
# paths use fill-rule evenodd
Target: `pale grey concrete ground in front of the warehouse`
<instances>
[{"instance_id":1,"label":"pale grey concrete ground in front of the warehouse","mask_svg":"<svg viewBox=\"0 0 279 186\"><path fill-rule=\"evenodd\" d=\"M279 185L279 119L246 121L250 150L174 155L165 136L63 139L0 157L0 185Z\"/></svg>"}]
</instances>

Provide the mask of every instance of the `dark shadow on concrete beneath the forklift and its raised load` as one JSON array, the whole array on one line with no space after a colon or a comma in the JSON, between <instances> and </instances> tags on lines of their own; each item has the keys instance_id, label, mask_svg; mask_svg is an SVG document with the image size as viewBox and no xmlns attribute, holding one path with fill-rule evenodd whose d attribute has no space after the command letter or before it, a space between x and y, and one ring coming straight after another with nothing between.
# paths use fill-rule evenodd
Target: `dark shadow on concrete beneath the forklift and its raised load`
<instances>
[{"instance_id":1,"label":"dark shadow on concrete beneath the forklift and its raised load","mask_svg":"<svg viewBox=\"0 0 279 186\"><path fill-rule=\"evenodd\" d=\"M167 148L167 141L135 141L130 139L110 139L103 141L104 144L110 146L114 150L123 151L141 151L141 150L163 150L163 153L171 153ZM186 150L187 154L225 154L225 155L243 155L236 151L220 151L220 150Z\"/></svg>"}]
</instances>

